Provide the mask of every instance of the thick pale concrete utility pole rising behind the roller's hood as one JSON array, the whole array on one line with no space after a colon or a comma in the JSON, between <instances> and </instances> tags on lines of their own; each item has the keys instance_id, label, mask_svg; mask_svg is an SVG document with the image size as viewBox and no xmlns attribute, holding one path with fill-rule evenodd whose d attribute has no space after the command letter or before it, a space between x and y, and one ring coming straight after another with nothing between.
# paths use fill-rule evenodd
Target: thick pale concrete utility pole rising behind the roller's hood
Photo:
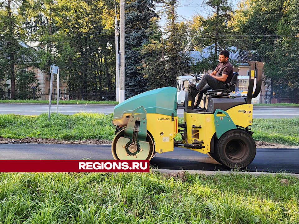
<instances>
[{"instance_id":1,"label":"thick pale concrete utility pole rising behind the roller's hood","mask_svg":"<svg viewBox=\"0 0 299 224\"><path fill-rule=\"evenodd\" d=\"M125 0L121 0L119 102L125 101Z\"/></svg>"}]
</instances>

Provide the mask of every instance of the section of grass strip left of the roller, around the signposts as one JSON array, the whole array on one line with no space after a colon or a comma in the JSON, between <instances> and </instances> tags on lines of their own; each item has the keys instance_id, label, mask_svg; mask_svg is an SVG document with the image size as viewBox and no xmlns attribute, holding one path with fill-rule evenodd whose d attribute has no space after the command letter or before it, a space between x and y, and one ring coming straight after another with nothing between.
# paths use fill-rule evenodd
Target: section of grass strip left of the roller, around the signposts
<instances>
[{"instance_id":1,"label":"section of grass strip left of the roller, around the signposts","mask_svg":"<svg viewBox=\"0 0 299 224\"><path fill-rule=\"evenodd\" d=\"M52 113L41 115L0 115L0 136L4 138L55 138L63 140L106 139L114 137L112 114Z\"/></svg>"}]
</instances>

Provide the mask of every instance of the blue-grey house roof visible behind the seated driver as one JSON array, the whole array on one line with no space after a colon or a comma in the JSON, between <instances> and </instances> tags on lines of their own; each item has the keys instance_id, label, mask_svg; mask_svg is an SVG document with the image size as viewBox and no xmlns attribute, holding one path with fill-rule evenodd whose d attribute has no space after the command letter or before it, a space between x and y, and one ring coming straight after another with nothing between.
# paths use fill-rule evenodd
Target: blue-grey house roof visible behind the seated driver
<instances>
[{"instance_id":1,"label":"blue-grey house roof visible behind the seated driver","mask_svg":"<svg viewBox=\"0 0 299 224\"><path fill-rule=\"evenodd\" d=\"M215 44L212 44L201 51L190 51L190 57L193 58L195 62L208 58L214 53L214 46ZM235 60L238 63L254 61L257 59L254 51L240 51L235 46L231 46L226 50L230 52L230 59Z\"/></svg>"}]
</instances>

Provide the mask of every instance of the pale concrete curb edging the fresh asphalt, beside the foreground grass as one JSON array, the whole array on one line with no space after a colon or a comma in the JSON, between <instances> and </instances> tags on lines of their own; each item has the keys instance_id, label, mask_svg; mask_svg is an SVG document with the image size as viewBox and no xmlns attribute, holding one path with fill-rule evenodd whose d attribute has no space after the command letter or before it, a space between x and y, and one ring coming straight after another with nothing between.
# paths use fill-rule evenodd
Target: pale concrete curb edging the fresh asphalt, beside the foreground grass
<instances>
[{"instance_id":1,"label":"pale concrete curb edging the fresh asphalt, beside the foreground grass","mask_svg":"<svg viewBox=\"0 0 299 224\"><path fill-rule=\"evenodd\" d=\"M204 174L207 176L210 175L236 175L236 174L241 174L241 175L253 175L253 176L261 176L261 175L290 175L293 177L297 177L299 179L299 174L293 174L293 173L268 173L268 172L239 172L239 171L207 171L207 170L166 170L166 169L155 169L154 171L158 171L160 173L164 174L177 174L178 172L181 171L186 171L190 174Z\"/></svg>"}]
</instances>

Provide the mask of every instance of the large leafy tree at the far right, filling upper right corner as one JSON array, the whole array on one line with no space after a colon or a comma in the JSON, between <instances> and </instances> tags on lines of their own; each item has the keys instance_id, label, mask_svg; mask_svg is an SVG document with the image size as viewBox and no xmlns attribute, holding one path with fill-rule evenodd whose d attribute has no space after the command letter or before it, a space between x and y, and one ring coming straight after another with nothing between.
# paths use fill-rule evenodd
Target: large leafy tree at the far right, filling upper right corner
<instances>
[{"instance_id":1,"label":"large leafy tree at the far right, filling upper right corner","mask_svg":"<svg viewBox=\"0 0 299 224\"><path fill-rule=\"evenodd\" d=\"M298 16L297 0L247 0L236 11L235 27L244 35L239 46L256 50L265 62L271 96L287 93L297 97L298 70L293 60L298 52L298 40L294 40Z\"/></svg>"}]
</instances>

